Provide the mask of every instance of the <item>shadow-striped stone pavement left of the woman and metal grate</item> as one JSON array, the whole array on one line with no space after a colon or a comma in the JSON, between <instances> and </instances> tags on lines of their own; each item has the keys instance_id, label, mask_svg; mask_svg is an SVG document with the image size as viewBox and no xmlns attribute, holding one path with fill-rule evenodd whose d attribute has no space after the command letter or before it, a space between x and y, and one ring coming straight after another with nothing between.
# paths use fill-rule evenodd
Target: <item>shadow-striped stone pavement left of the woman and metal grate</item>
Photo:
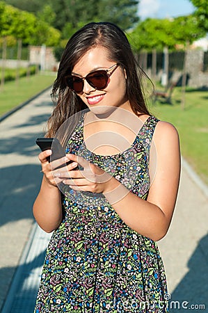
<instances>
[{"instance_id":1,"label":"shadow-striped stone pavement left of the woman and metal grate","mask_svg":"<svg viewBox=\"0 0 208 313\"><path fill-rule=\"evenodd\" d=\"M42 177L35 140L52 111L49 93L0 123L0 310L34 223L32 206Z\"/></svg>"}]
</instances>

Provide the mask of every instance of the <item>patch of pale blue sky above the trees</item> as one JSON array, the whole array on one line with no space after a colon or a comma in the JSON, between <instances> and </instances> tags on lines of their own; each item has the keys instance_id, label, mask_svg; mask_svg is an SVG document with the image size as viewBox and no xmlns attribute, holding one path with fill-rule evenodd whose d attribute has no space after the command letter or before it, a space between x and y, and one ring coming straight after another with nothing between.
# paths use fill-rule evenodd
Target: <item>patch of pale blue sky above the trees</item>
<instances>
[{"instance_id":1,"label":"patch of pale blue sky above the trees","mask_svg":"<svg viewBox=\"0 0 208 313\"><path fill-rule=\"evenodd\" d=\"M189 0L140 0L138 5L138 15L141 19L168 18L189 15L195 10Z\"/></svg>"}]
</instances>

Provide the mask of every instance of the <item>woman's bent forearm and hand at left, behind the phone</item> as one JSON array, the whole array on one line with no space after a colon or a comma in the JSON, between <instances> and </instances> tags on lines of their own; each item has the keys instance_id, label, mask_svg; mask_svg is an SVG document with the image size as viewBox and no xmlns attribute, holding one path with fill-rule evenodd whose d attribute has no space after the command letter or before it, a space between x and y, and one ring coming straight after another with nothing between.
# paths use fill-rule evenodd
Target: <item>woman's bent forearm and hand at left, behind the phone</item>
<instances>
[{"instance_id":1,"label":"woman's bent forearm and hand at left, behind the phone","mask_svg":"<svg viewBox=\"0 0 208 313\"><path fill-rule=\"evenodd\" d=\"M33 215L38 225L45 230L45 232L53 232L61 224L62 205L61 205L61 191L57 184L61 180L54 180L54 173L56 170L51 169L51 163L47 161L47 157L51 154L51 150L46 150L39 154L40 163L42 165L42 184L37 198L33 204ZM56 166L64 164L68 159L62 158L53 163ZM71 163L67 166L67 170L72 170L77 166L77 163Z\"/></svg>"}]
</instances>

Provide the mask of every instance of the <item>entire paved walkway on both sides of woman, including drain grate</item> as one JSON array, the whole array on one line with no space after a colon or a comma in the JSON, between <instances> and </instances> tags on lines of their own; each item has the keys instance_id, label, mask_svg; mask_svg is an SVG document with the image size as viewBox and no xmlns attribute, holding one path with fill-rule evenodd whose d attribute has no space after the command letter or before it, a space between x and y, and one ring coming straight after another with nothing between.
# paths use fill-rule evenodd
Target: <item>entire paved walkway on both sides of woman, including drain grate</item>
<instances>
[{"instance_id":1,"label":"entire paved walkway on both sides of woman, including drain grate","mask_svg":"<svg viewBox=\"0 0 208 313\"><path fill-rule=\"evenodd\" d=\"M0 124L1 313L33 313L50 237L34 223L32 214L42 177L35 139L42 136L51 110L48 90ZM183 163L173 222L159 241L171 312L183 312L191 305L195 310L205 305L203 311L208 312L207 187L202 191L193 177Z\"/></svg>"}]
</instances>

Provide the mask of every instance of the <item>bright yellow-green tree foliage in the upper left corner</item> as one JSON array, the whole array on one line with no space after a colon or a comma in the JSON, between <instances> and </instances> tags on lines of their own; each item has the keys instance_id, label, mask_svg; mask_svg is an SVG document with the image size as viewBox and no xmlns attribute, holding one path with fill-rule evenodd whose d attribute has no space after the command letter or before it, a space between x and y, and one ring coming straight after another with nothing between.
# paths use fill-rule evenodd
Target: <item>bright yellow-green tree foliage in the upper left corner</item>
<instances>
[{"instance_id":1,"label":"bright yellow-green tree foliage in the upper left corner","mask_svg":"<svg viewBox=\"0 0 208 313\"><path fill-rule=\"evenodd\" d=\"M32 13L0 2L0 36L21 38L24 45L58 45L60 32Z\"/></svg>"}]
</instances>

